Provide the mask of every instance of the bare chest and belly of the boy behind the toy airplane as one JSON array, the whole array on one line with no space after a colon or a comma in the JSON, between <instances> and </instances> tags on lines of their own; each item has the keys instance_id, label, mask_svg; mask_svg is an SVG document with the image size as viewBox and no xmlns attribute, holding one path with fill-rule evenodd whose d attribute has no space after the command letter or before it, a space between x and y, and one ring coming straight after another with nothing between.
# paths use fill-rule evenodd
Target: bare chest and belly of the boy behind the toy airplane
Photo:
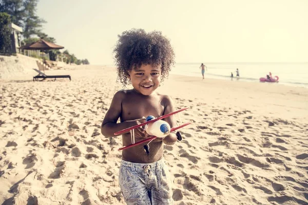
<instances>
[{"instance_id":1,"label":"bare chest and belly of the boy behind the toy airplane","mask_svg":"<svg viewBox=\"0 0 308 205\"><path fill-rule=\"evenodd\" d=\"M121 122L127 120L140 119L153 115L159 117L164 114L165 103L164 96L152 93L145 96L134 90L127 90L126 97L122 101ZM141 139L136 138L136 142ZM123 146L131 144L130 133L122 135ZM146 155L143 146L148 143L126 149L122 151L122 159L136 163L151 163L160 160L163 157L163 142L152 141L149 145L150 154Z\"/></svg>"}]
</instances>

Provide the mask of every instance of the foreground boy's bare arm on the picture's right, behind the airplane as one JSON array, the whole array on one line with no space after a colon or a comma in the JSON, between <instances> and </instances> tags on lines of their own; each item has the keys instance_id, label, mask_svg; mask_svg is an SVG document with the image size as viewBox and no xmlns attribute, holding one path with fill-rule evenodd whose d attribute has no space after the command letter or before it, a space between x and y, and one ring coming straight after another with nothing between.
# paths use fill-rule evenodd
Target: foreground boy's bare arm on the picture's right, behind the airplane
<instances>
[{"instance_id":1,"label":"foreground boy's bare arm on the picture's right, behind the airplane","mask_svg":"<svg viewBox=\"0 0 308 205\"><path fill-rule=\"evenodd\" d=\"M173 100L171 99L170 96L165 96L163 99L164 105L165 105L165 110L164 110L164 115L174 112L175 108L174 108L174 103ZM169 117L164 118L164 120L166 122L168 122L168 124L170 125L170 128L176 127L177 126L177 120L175 115L171 115ZM177 135L176 132L170 132L169 135L167 135L165 138L163 138L163 142L166 145L174 145L177 141Z\"/></svg>"}]
</instances>

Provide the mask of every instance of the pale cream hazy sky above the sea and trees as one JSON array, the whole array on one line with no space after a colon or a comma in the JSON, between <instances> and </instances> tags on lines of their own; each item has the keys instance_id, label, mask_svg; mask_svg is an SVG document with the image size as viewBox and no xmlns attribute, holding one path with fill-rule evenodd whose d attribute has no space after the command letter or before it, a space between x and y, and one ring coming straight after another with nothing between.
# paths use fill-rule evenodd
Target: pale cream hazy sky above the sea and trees
<instances>
[{"instance_id":1,"label":"pale cream hazy sky above the sea and trees","mask_svg":"<svg viewBox=\"0 0 308 205\"><path fill-rule=\"evenodd\" d=\"M177 63L308 62L307 0L40 0L43 32L79 59L112 65L118 35L162 31ZM64 50L65 50L64 49Z\"/></svg>"}]
</instances>

